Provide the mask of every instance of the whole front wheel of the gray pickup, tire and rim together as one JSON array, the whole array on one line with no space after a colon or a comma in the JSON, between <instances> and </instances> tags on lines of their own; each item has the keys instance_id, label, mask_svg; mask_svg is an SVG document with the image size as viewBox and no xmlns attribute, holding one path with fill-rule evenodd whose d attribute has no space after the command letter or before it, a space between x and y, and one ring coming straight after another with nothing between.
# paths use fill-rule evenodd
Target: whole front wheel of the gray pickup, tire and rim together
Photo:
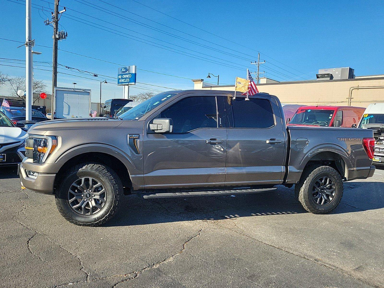
<instances>
[{"instance_id":1,"label":"whole front wheel of the gray pickup, tire and rim together","mask_svg":"<svg viewBox=\"0 0 384 288\"><path fill-rule=\"evenodd\" d=\"M63 177L56 193L56 205L69 222L99 226L110 220L120 204L119 176L101 164L79 164Z\"/></svg>"}]
</instances>

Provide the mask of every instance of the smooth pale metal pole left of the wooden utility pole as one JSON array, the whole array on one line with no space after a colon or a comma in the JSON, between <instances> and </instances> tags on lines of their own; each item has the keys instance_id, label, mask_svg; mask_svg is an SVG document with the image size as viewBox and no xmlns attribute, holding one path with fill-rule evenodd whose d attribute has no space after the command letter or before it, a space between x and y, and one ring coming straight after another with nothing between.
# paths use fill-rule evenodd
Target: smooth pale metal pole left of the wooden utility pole
<instances>
[{"instance_id":1,"label":"smooth pale metal pole left of the wooden utility pole","mask_svg":"<svg viewBox=\"0 0 384 288\"><path fill-rule=\"evenodd\" d=\"M32 20L31 20L31 0L26 0L26 14L25 14L25 120L32 120L32 83L33 83L33 70L32 70Z\"/></svg>"}]
</instances>

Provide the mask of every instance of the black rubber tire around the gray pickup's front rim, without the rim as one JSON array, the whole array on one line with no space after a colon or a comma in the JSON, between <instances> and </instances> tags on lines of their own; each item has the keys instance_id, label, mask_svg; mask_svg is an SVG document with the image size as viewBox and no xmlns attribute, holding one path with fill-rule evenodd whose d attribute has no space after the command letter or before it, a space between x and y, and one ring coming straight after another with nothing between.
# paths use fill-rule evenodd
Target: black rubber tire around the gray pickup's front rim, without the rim
<instances>
[{"instance_id":1,"label":"black rubber tire around the gray pickup's front rim, without the rim","mask_svg":"<svg viewBox=\"0 0 384 288\"><path fill-rule=\"evenodd\" d=\"M100 181L108 195L106 203L98 213L94 215L81 215L76 213L68 202L68 189L70 185L81 177L93 177ZM72 167L61 178L55 194L56 205L60 214L69 222L80 226L100 226L109 221L117 212L120 205L120 197L123 187L119 176L108 166L97 163L83 163Z\"/></svg>"}]
</instances>

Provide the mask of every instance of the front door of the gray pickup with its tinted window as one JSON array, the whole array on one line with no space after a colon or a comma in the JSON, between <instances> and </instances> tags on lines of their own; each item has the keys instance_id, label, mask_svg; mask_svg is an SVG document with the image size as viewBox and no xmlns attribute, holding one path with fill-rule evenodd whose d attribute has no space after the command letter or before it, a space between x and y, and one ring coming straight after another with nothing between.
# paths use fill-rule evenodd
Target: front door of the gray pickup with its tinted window
<instances>
[{"instance_id":1,"label":"front door of the gray pickup with its tinted window","mask_svg":"<svg viewBox=\"0 0 384 288\"><path fill-rule=\"evenodd\" d=\"M154 116L172 119L171 133L144 132L144 187L223 186L227 129L217 111L217 98L222 96L180 98Z\"/></svg>"}]
</instances>

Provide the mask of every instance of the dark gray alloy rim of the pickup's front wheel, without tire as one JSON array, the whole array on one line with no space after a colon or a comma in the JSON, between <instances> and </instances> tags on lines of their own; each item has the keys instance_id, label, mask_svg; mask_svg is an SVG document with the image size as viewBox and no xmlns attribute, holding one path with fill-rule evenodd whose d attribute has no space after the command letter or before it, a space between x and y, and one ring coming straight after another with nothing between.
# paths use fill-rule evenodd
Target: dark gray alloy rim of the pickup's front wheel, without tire
<instances>
[{"instance_id":1,"label":"dark gray alloy rim of the pickup's front wheel, without tire","mask_svg":"<svg viewBox=\"0 0 384 288\"><path fill-rule=\"evenodd\" d=\"M106 190L97 179L81 177L68 189L68 203L78 214L94 215L100 212L107 200Z\"/></svg>"}]
</instances>

